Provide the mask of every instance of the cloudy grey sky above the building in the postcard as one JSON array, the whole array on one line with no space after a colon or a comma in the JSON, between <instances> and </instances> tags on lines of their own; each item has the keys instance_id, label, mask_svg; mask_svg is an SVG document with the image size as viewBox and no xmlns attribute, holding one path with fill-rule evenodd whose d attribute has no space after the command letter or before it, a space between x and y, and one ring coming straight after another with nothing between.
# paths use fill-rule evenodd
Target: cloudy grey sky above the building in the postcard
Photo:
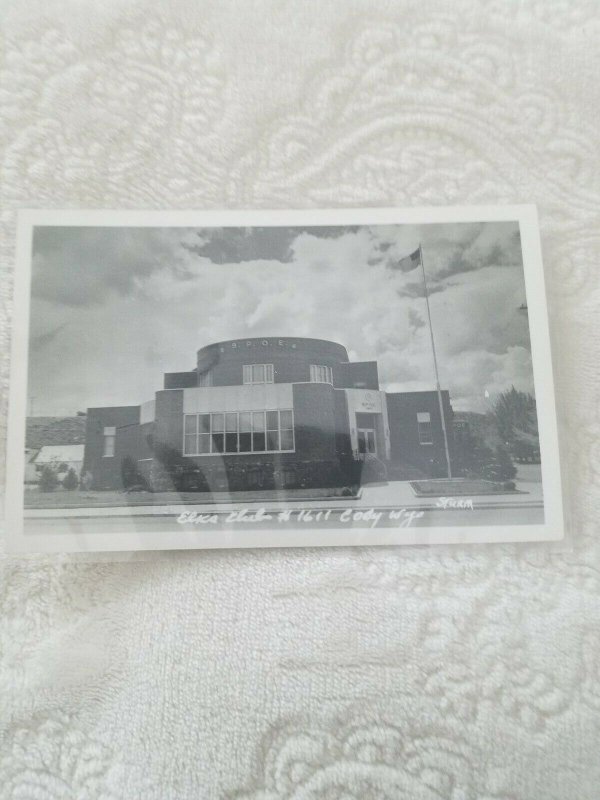
<instances>
[{"instance_id":1,"label":"cloudy grey sky above the building in the postcard","mask_svg":"<svg viewBox=\"0 0 600 800\"><path fill-rule=\"evenodd\" d=\"M377 360L382 388L434 387L422 243L440 381L456 410L533 391L517 223L327 228L38 227L29 413L138 404L200 347L312 336Z\"/></svg>"}]
</instances>

